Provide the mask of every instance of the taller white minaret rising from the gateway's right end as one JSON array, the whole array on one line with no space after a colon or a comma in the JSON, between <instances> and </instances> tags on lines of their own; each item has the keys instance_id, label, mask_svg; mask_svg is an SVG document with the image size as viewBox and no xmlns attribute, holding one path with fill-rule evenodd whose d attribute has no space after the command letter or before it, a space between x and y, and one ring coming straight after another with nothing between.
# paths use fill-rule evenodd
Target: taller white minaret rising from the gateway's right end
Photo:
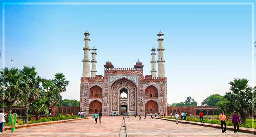
<instances>
[{"instance_id":1,"label":"taller white minaret rising from the gateway's right end","mask_svg":"<svg viewBox=\"0 0 256 137\"><path fill-rule=\"evenodd\" d=\"M165 51L165 48L163 47L163 41L164 41L164 38L163 38L163 33L161 32L161 30L159 31L158 33L158 48L157 48L157 51L158 51L158 60L157 60L157 66L158 66L158 75L157 77L165 77L165 59L164 59L164 51Z\"/></svg>"}]
</instances>

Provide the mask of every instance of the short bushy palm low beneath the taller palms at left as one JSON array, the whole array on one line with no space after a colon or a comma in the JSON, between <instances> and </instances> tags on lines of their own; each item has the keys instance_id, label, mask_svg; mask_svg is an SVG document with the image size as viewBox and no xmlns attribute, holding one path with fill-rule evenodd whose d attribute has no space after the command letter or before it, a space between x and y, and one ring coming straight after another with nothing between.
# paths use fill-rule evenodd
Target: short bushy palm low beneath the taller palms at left
<instances>
[{"instance_id":1,"label":"short bushy palm low beneath the taller palms at left","mask_svg":"<svg viewBox=\"0 0 256 137\"><path fill-rule=\"evenodd\" d=\"M46 101L47 101L46 97L43 97L41 99L38 99L32 102L32 107L30 108L30 111L35 112L36 121L39 120L41 112L45 113L45 115L48 115L48 107L45 104Z\"/></svg>"}]
</instances>

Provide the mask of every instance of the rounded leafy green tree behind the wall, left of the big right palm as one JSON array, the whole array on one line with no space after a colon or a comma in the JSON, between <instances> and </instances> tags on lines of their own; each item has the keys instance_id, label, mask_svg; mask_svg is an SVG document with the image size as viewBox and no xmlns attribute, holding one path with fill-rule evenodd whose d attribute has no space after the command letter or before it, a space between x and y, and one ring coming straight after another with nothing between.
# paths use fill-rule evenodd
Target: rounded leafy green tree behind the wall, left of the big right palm
<instances>
[{"instance_id":1,"label":"rounded leafy green tree behind the wall, left of the big right palm","mask_svg":"<svg viewBox=\"0 0 256 137\"><path fill-rule=\"evenodd\" d=\"M208 96L203 102L202 106L217 106L217 102L221 101L223 97L219 94L213 94Z\"/></svg>"}]
</instances>

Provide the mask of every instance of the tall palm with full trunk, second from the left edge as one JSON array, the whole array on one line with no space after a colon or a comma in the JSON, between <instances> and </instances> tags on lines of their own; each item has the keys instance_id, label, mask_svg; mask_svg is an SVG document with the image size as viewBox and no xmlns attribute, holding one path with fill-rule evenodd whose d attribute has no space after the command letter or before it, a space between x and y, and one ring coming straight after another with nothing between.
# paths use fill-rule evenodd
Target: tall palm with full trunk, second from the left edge
<instances>
[{"instance_id":1,"label":"tall palm with full trunk, second from the left edge","mask_svg":"<svg viewBox=\"0 0 256 137\"><path fill-rule=\"evenodd\" d=\"M24 104L25 114L24 114L24 122L28 122L28 114L29 114L29 105L33 101L37 100L40 96L40 81L41 78L37 74L35 67L24 66L22 70L20 70L20 74L23 76L24 87L23 90L27 95L26 98L22 100Z\"/></svg>"}]
</instances>

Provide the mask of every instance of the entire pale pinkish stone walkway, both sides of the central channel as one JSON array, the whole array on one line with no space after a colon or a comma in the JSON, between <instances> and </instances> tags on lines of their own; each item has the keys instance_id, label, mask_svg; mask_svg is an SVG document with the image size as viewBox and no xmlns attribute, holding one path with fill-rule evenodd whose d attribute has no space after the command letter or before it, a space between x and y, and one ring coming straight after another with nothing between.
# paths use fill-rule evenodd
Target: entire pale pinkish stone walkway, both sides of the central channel
<instances>
[{"instance_id":1,"label":"entire pale pinkish stone walkway, both sides of the central channel","mask_svg":"<svg viewBox=\"0 0 256 137\"><path fill-rule=\"evenodd\" d=\"M252 134L239 133L234 135L232 131L221 133L221 129L203 127L189 124L176 124L172 121L159 119L151 120L150 117L133 116L125 119L127 135L129 137L249 137ZM118 137L122 125L121 116L104 116L102 123L94 124L94 119L84 119L60 124L43 125L16 129L14 134L6 131L0 137Z\"/></svg>"}]
</instances>

